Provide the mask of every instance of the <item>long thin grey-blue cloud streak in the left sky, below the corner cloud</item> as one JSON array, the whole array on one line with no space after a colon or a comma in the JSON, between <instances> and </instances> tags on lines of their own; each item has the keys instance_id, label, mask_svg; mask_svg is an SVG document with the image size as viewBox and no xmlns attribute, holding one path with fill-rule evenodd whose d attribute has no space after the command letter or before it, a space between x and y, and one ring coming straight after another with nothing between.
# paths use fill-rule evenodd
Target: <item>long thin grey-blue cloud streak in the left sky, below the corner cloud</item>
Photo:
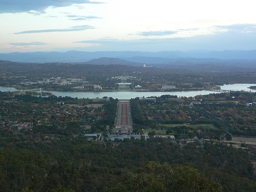
<instances>
[{"instance_id":1,"label":"long thin grey-blue cloud streak in the left sky, below the corner cloud","mask_svg":"<svg viewBox=\"0 0 256 192\"><path fill-rule=\"evenodd\" d=\"M70 31L84 31L87 29L95 29L89 25L73 26L67 29L42 29L42 30L31 30L31 31L21 31L14 34L26 34L26 33L50 33L50 32L70 32Z\"/></svg>"}]
</instances>

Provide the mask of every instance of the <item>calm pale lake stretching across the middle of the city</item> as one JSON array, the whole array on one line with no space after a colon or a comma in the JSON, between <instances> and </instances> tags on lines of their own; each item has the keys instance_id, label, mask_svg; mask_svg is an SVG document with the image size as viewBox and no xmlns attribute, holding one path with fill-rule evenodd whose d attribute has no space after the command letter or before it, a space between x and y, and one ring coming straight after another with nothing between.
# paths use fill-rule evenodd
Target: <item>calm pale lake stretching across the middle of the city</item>
<instances>
[{"instance_id":1,"label":"calm pale lake stretching across the middle of the city","mask_svg":"<svg viewBox=\"0 0 256 192\"><path fill-rule=\"evenodd\" d=\"M250 90L248 87L256 86L256 84L228 84L221 86L223 90L232 90L232 91L251 91L256 92L256 90ZM15 88L6 88L0 87L0 91L18 91ZM210 93L219 93L213 91L187 91L187 92L60 92L60 91L50 91L52 94L56 95L57 97L62 96L69 96L69 97L77 97L77 98L102 98L112 97L114 99L131 99L135 97L150 97L150 96L161 96L161 95L177 95L178 97L194 97L197 95L208 95Z\"/></svg>"}]
</instances>

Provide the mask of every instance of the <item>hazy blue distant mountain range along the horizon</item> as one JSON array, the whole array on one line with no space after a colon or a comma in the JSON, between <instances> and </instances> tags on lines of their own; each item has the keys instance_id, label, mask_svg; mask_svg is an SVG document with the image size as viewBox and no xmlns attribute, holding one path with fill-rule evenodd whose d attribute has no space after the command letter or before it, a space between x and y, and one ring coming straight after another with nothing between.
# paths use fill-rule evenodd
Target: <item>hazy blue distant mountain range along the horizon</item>
<instances>
[{"instance_id":1,"label":"hazy blue distant mountain range along the horizon","mask_svg":"<svg viewBox=\"0 0 256 192\"><path fill-rule=\"evenodd\" d=\"M27 52L27 53L2 53L0 60L15 62L70 62L83 63L101 57L119 58L135 63L157 64L174 61L189 62L232 62L232 61L256 61L256 50L225 50L225 51L160 51L160 52L139 52L139 51L68 51L62 52ZM93 62L93 61L92 61ZM114 64L114 63L112 63ZM125 65L125 63L123 64Z\"/></svg>"}]
</instances>

